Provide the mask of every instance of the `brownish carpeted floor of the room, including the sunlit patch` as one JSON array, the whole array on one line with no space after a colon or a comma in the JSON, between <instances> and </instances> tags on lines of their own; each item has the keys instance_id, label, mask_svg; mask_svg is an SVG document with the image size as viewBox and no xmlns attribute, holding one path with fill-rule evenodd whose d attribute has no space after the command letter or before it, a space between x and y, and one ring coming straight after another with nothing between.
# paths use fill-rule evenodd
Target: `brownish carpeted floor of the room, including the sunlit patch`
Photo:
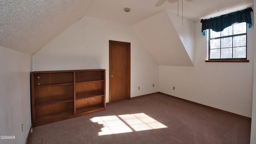
<instances>
[{"instance_id":1,"label":"brownish carpeted floor of the room, including the sunlit patch","mask_svg":"<svg viewBox=\"0 0 256 144\"><path fill-rule=\"evenodd\" d=\"M249 120L162 94L33 128L29 144L250 144Z\"/></svg>"}]
</instances>

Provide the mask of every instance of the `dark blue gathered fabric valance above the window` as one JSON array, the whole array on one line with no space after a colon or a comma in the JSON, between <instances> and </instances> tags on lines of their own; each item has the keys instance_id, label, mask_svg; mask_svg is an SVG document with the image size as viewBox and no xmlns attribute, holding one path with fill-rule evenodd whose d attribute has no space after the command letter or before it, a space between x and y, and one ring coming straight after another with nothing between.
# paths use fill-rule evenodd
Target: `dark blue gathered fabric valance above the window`
<instances>
[{"instance_id":1,"label":"dark blue gathered fabric valance above the window","mask_svg":"<svg viewBox=\"0 0 256 144\"><path fill-rule=\"evenodd\" d=\"M251 12L252 8L246 8L244 10L239 10L229 14L224 14L217 16L215 18L202 19L202 34L204 35L204 30L212 29L215 32L221 32L224 28L231 26L232 24L238 22L246 22L249 24L249 28L252 26Z\"/></svg>"}]
</instances>

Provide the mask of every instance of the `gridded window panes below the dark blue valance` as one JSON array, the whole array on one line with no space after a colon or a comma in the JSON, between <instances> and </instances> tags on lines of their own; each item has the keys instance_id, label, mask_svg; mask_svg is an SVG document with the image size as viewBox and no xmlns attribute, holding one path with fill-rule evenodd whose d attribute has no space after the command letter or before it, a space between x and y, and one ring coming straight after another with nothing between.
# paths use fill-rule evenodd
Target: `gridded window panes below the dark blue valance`
<instances>
[{"instance_id":1,"label":"gridded window panes below the dark blue valance","mask_svg":"<svg viewBox=\"0 0 256 144\"><path fill-rule=\"evenodd\" d=\"M209 60L247 60L246 22L235 23L222 32L209 30Z\"/></svg>"}]
</instances>

